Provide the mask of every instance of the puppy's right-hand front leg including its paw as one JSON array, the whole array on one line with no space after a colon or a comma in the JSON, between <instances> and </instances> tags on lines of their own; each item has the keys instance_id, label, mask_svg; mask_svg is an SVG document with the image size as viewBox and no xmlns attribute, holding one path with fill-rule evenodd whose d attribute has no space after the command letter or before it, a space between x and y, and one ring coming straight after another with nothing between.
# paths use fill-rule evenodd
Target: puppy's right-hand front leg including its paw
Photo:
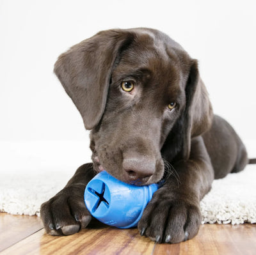
<instances>
[{"instance_id":1,"label":"puppy's right-hand front leg including its paw","mask_svg":"<svg viewBox=\"0 0 256 255\"><path fill-rule=\"evenodd\" d=\"M189 160L175 162L174 174L157 190L138 224L141 235L156 242L178 243L193 238L201 224L200 199L214 178L202 137L191 140Z\"/></svg>"}]
</instances>

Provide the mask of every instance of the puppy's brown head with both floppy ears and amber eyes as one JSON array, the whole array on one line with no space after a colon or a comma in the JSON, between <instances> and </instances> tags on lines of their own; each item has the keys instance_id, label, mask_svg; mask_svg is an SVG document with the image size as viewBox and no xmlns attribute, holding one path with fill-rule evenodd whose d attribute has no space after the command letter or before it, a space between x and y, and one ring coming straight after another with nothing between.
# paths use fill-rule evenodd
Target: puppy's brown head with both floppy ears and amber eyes
<instances>
[{"instance_id":1,"label":"puppy's brown head with both floppy ears and amber eyes","mask_svg":"<svg viewBox=\"0 0 256 255\"><path fill-rule=\"evenodd\" d=\"M74 45L54 72L90 133L93 166L136 185L187 160L212 109L195 59L154 29L114 29Z\"/></svg>"}]
</instances>

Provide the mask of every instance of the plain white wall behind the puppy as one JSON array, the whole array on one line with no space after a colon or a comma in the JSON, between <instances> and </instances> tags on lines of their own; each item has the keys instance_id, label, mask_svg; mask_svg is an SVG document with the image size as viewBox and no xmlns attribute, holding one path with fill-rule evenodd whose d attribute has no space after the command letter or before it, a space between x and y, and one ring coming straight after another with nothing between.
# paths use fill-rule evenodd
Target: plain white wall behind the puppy
<instances>
[{"instance_id":1,"label":"plain white wall behind the puppy","mask_svg":"<svg viewBox=\"0 0 256 255\"><path fill-rule=\"evenodd\" d=\"M68 47L114 27L153 27L200 61L214 111L256 140L256 1L0 1L0 140L84 141L54 77Z\"/></svg>"}]
</instances>

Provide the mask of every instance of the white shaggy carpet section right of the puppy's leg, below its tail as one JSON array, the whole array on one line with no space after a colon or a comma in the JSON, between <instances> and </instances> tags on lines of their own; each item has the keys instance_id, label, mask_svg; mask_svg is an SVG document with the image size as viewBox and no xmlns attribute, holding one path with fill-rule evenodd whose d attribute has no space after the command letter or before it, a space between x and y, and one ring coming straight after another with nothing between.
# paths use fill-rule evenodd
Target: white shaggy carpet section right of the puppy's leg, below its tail
<instances>
[{"instance_id":1,"label":"white shaggy carpet section right of the puppy's leg, below its tail","mask_svg":"<svg viewBox=\"0 0 256 255\"><path fill-rule=\"evenodd\" d=\"M256 166L214 180L200 206L203 223L256 223Z\"/></svg>"}]
</instances>

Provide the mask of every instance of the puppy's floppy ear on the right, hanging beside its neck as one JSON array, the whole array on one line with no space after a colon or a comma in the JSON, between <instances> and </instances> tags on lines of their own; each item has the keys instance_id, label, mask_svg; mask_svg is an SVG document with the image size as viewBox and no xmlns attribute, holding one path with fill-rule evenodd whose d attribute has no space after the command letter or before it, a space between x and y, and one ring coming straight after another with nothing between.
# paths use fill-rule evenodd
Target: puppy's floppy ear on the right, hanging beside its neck
<instances>
[{"instance_id":1,"label":"puppy's floppy ear on the right, hanging beside its neck","mask_svg":"<svg viewBox=\"0 0 256 255\"><path fill-rule=\"evenodd\" d=\"M191 138L203 134L211 127L212 106L204 82L198 72L198 63L191 60L186 84L186 109L184 112L184 134L182 158L189 158Z\"/></svg>"}]
</instances>

